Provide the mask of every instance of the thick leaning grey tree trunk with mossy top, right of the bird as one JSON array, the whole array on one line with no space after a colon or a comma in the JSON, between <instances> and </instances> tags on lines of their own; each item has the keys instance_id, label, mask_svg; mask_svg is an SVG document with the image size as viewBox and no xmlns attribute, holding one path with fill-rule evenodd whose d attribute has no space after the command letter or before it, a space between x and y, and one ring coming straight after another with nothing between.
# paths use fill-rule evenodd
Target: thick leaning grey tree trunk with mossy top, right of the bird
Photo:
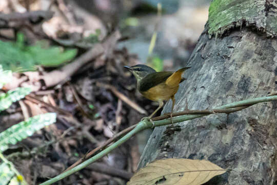
<instances>
[{"instance_id":1,"label":"thick leaning grey tree trunk with mossy top, right of the bird","mask_svg":"<svg viewBox=\"0 0 277 185\"><path fill-rule=\"evenodd\" d=\"M277 90L277 41L272 38L277 33L276 4L211 3L209 20L187 64L192 69L185 72L187 80L175 96L174 112L185 109L186 98L189 109L206 109ZM163 113L170 108L171 102ZM138 168L161 158L206 159L232 170L206 184L277 184L276 108L277 101L259 103L229 115L156 127Z\"/></svg>"}]
</instances>

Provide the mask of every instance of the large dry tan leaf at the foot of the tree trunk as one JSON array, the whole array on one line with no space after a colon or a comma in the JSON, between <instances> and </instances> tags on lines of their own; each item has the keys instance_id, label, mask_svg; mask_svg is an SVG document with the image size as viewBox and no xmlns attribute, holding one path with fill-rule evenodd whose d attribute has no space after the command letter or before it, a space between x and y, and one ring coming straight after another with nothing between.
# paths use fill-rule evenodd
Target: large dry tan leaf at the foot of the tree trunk
<instances>
[{"instance_id":1,"label":"large dry tan leaf at the foot of the tree trunk","mask_svg":"<svg viewBox=\"0 0 277 185\"><path fill-rule=\"evenodd\" d=\"M160 182L164 185L200 185L225 172L207 160L162 159L147 164L127 184L150 185Z\"/></svg>"}]
</instances>

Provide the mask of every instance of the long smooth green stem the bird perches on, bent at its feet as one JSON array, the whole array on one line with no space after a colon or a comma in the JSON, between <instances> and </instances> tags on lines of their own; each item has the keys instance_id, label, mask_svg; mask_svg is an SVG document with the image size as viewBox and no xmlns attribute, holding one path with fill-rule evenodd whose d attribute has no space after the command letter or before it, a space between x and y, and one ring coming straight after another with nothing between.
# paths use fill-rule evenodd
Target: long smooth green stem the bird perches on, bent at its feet
<instances>
[{"instance_id":1,"label":"long smooth green stem the bird perches on, bent at its feet","mask_svg":"<svg viewBox=\"0 0 277 185\"><path fill-rule=\"evenodd\" d=\"M243 101L223 105L223 106L220 106L220 107L216 107L215 109L249 106L249 105L253 105L253 104L256 104L256 103L267 102L267 101L272 101L272 100L277 100L277 96L261 97L261 98L253 98L253 99L243 100ZM203 117L203 116L205 116L205 115L183 115L183 116L179 116L179 117L173 117L172 121L173 121L173 123L177 123L177 122L192 120L192 119L195 119L195 118L200 118L200 117ZM154 126L167 125L167 124L171 124L171 120L170 119L164 119L164 120L154 121L153 124L154 124ZM123 136L121 139L119 139L118 141L116 141L112 145L108 146L105 150L103 150L100 153L94 155L93 157L91 157L90 159L88 159L88 160L84 161L83 163L77 165L76 167L74 167L70 170L67 170L66 172L64 172L60 175L57 175L56 177L54 177L50 180L47 180L46 182L42 183L41 185L52 184L52 183L54 183L58 180L61 180L65 177L67 177L67 176L69 176L69 175L71 175L71 174L87 167L92 162L106 156L112 150L114 150L116 147L118 147L121 144L125 143L129 138L131 138L136 133L141 132L141 131L143 131L147 128L151 128L152 126L153 125L150 121L147 121L147 120L144 119L143 121L139 122L135 126L135 128L133 128L132 131L127 133L125 136Z\"/></svg>"}]
</instances>

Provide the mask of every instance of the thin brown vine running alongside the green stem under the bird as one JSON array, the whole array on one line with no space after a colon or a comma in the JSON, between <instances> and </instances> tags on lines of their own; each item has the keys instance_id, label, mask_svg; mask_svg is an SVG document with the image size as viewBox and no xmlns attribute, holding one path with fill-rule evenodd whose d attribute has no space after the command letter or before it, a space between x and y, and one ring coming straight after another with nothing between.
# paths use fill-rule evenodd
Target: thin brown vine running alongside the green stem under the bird
<instances>
[{"instance_id":1,"label":"thin brown vine running alongside the green stem under the bird","mask_svg":"<svg viewBox=\"0 0 277 185\"><path fill-rule=\"evenodd\" d=\"M173 113L172 117L183 116L183 115L193 115L193 114L194 115L209 115L209 114L216 114L216 113L226 113L226 114L229 114L229 113L234 113L236 111L242 110L242 109L247 108L249 106L251 106L251 105L240 106L240 107L235 107L235 108L221 108L221 109L211 109L211 110L185 110L183 112ZM166 118L170 118L170 115L163 115L163 116L154 117L154 118L152 118L152 120L153 121L157 121L157 120L162 120L162 119L166 119ZM129 133L130 131L133 130L133 128L136 125L137 124L129 126L128 128L125 128L125 130L123 130L120 133L114 135L112 138L107 140L103 145L96 147L91 152L89 152L86 156L84 156L83 158L79 159L74 164L72 164L70 167L68 167L65 170L65 172L70 170L70 169L72 169L72 168L74 168L74 167L76 167L76 165L81 164L85 160L91 158L95 153L100 152L101 150L104 149L104 147L106 147L110 143L112 143L112 142L118 140L120 137L122 137L122 135Z\"/></svg>"}]
</instances>

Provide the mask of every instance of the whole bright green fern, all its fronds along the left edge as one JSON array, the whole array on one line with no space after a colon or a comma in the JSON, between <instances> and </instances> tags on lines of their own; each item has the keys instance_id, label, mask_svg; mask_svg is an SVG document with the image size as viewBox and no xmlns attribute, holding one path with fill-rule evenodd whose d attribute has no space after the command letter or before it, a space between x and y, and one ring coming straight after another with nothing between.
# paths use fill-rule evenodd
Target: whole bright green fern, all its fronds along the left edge
<instances>
[{"instance_id":1,"label":"whole bright green fern, all its fronds along the left edge","mask_svg":"<svg viewBox=\"0 0 277 185\"><path fill-rule=\"evenodd\" d=\"M0 65L0 88L2 88L6 82L10 82L11 78L12 72L10 70L3 71L3 68ZM30 93L31 88L17 87L9 90L7 93L0 94L0 112L9 108L13 102L24 98ZM10 145L16 144L18 141L33 135L34 132L54 123L55 121L55 113L46 113L15 124L6 131L0 133L0 159L2 160L2 163L0 163L1 185L27 184L24 177L15 169L12 162L4 157L2 152L7 150Z\"/></svg>"}]
</instances>

